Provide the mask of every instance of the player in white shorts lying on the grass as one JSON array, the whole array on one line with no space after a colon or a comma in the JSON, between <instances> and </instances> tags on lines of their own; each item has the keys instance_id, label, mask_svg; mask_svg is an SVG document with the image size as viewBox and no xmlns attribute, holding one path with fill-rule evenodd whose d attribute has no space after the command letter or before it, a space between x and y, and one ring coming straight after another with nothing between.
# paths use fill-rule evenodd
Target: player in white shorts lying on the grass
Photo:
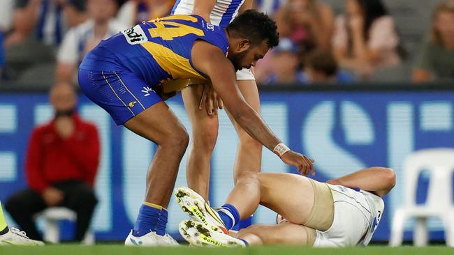
<instances>
[{"instance_id":1,"label":"player in white shorts lying on the grass","mask_svg":"<svg viewBox=\"0 0 454 255\"><path fill-rule=\"evenodd\" d=\"M180 223L180 233L198 246L367 245L383 215L381 197L394 185L394 171L383 167L363 169L327 183L292 173L246 172L219 209L211 208L189 188L178 188L177 203L193 219ZM279 213L279 224L256 224L227 234L259 204Z\"/></svg>"}]
</instances>

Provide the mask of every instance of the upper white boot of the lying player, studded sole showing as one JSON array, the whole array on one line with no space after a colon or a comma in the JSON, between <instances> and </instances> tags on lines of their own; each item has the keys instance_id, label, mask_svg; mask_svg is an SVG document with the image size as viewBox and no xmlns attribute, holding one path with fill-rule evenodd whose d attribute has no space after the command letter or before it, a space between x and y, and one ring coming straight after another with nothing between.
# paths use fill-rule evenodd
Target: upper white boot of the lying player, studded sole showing
<instances>
[{"instance_id":1,"label":"upper white boot of the lying player, studded sole showing","mask_svg":"<svg viewBox=\"0 0 454 255\"><path fill-rule=\"evenodd\" d=\"M183 212L186 212L194 221L204 224L213 231L228 234L226 225L217 211L189 187L178 187L175 191L175 198Z\"/></svg>"}]
</instances>

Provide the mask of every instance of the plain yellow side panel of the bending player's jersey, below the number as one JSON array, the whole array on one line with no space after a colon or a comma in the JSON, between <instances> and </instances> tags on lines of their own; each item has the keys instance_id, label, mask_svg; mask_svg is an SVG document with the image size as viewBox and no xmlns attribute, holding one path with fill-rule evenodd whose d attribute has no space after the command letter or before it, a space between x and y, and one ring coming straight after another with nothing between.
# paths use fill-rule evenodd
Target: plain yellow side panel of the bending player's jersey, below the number
<instances>
[{"instance_id":1,"label":"plain yellow side panel of the bending player's jersey, below the number","mask_svg":"<svg viewBox=\"0 0 454 255\"><path fill-rule=\"evenodd\" d=\"M143 42L141 45L147 49L147 52L152 54L159 66L172 76L173 79L205 79L205 77L192 68L189 59L176 54L171 49L155 42Z\"/></svg>"}]
</instances>

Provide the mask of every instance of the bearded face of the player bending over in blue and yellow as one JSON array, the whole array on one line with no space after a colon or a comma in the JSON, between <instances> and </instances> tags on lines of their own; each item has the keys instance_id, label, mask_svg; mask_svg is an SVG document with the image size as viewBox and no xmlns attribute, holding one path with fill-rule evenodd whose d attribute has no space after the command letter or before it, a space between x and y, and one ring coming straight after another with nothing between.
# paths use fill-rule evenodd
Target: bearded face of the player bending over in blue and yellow
<instances>
[{"instance_id":1,"label":"bearded face of the player bending over in blue and yellow","mask_svg":"<svg viewBox=\"0 0 454 255\"><path fill-rule=\"evenodd\" d=\"M261 42L256 46L250 46L246 49L240 50L230 57L235 70L241 70L242 68L251 68L255 66L259 59L263 59L263 56L268 52L270 48L265 41Z\"/></svg>"}]
</instances>

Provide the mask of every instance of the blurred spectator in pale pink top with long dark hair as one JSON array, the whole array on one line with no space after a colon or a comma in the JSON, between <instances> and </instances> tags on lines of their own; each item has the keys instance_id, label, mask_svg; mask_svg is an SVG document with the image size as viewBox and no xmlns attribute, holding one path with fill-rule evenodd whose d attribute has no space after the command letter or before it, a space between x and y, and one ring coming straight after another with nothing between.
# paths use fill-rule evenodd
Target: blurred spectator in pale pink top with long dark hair
<instances>
[{"instance_id":1,"label":"blurred spectator in pale pink top with long dark hair","mask_svg":"<svg viewBox=\"0 0 454 255\"><path fill-rule=\"evenodd\" d=\"M337 17L332 46L343 68L366 79L375 68L400 63L399 40L381 0L346 0L346 14Z\"/></svg>"}]
</instances>

